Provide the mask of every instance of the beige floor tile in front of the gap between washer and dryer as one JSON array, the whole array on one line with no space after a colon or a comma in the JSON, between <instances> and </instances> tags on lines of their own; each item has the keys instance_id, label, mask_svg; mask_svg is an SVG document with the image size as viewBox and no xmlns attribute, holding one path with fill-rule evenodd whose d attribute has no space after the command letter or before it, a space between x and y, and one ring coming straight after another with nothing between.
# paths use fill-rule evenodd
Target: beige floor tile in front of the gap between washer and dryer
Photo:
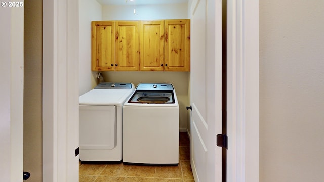
<instances>
[{"instance_id":1,"label":"beige floor tile in front of the gap between washer and dryer","mask_svg":"<svg viewBox=\"0 0 324 182\"><path fill-rule=\"evenodd\" d=\"M107 164L107 166L100 173L101 176L126 176L130 170L130 165L121 164Z\"/></svg>"}]
</instances>

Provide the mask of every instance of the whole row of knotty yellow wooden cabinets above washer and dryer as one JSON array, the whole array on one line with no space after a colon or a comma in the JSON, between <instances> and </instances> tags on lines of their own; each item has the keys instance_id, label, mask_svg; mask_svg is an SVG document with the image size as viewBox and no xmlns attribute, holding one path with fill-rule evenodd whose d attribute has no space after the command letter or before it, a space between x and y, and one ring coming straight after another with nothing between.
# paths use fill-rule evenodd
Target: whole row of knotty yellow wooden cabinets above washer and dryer
<instances>
[{"instance_id":1,"label":"whole row of knotty yellow wooden cabinets above washer and dryer","mask_svg":"<svg viewBox=\"0 0 324 182\"><path fill-rule=\"evenodd\" d=\"M190 20L93 21L93 71L190 71Z\"/></svg>"}]
</instances>

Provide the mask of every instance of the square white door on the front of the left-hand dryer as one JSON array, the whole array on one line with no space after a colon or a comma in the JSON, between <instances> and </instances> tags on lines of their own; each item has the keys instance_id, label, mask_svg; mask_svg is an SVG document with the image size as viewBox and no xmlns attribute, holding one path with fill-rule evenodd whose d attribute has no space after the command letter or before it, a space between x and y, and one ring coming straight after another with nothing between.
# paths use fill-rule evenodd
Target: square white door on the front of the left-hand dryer
<instances>
[{"instance_id":1,"label":"square white door on the front of the left-hand dryer","mask_svg":"<svg viewBox=\"0 0 324 182\"><path fill-rule=\"evenodd\" d=\"M116 146L115 114L115 106L79 106L80 150L111 150Z\"/></svg>"}]
</instances>

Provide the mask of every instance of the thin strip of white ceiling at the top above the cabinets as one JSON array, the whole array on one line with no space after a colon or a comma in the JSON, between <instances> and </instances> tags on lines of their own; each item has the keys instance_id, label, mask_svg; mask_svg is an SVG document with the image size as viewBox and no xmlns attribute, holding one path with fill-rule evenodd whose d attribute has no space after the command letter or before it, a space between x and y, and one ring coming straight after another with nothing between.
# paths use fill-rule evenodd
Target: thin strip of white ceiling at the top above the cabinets
<instances>
[{"instance_id":1,"label":"thin strip of white ceiling at the top above the cabinets","mask_svg":"<svg viewBox=\"0 0 324 182\"><path fill-rule=\"evenodd\" d=\"M102 5L149 5L149 4L178 4L178 3L188 3L188 0L97 0Z\"/></svg>"}]
</instances>

